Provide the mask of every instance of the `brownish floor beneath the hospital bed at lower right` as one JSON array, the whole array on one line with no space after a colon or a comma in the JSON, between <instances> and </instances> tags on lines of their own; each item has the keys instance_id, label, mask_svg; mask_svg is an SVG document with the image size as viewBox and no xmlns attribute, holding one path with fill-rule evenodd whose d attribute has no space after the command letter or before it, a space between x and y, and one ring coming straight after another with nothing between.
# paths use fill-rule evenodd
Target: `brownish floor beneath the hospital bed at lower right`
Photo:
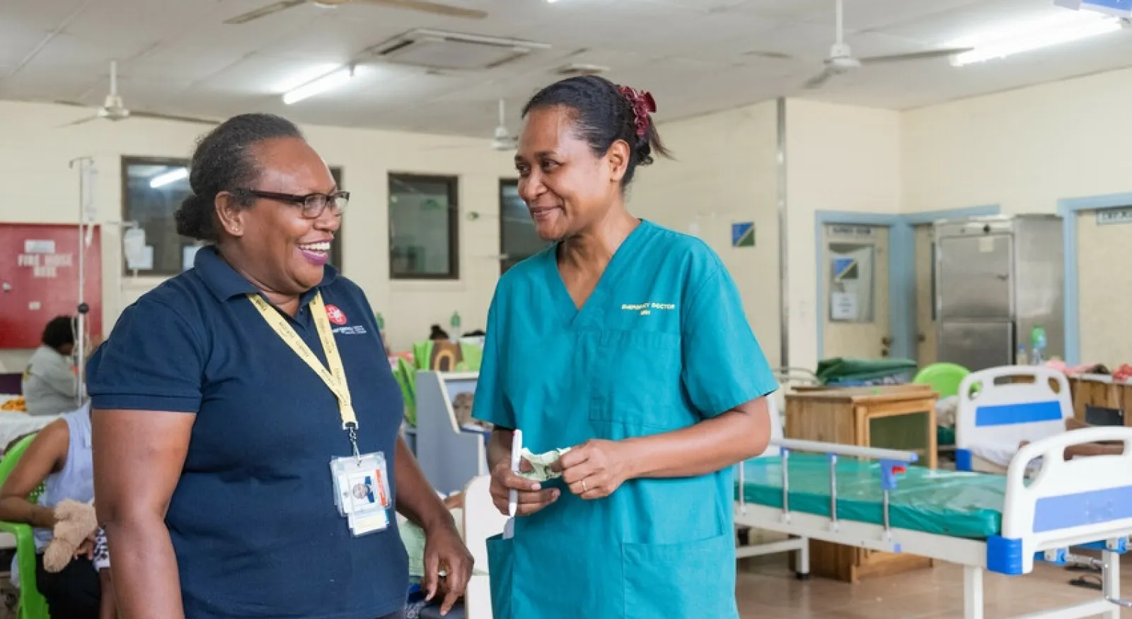
<instances>
[{"instance_id":1,"label":"brownish floor beneath the hospital bed at lower right","mask_svg":"<svg viewBox=\"0 0 1132 619\"><path fill-rule=\"evenodd\" d=\"M783 558L779 558L783 557ZM1132 558L1123 561L1123 596L1132 598ZM1070 586L1081 576L1048 565L1022 577L984 574L986 619L1088 602L1099 591ZM745 559L738 576L743 619L962 619L963 569L937 563L923 569L861 581L856 585L813 577L800 582L784 556ZM1132 617L1125 610L1121 617Z\"/></svg>"}]
</instances>

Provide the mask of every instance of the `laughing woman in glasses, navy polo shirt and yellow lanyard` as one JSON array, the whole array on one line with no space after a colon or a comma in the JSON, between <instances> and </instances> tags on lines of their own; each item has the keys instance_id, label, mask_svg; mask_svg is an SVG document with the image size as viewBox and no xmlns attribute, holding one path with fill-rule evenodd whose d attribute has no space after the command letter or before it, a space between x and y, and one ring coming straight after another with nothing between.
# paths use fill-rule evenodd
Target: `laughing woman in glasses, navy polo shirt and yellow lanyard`
<instances>
[{"instance_id":1,"label":"laughing woman in glasses, navy polo shirt and yellow lanyard","mask_svg":"<svg viewBox=\"0 0 1132 619\"><path fill-rule=\"evenodd\" d=\"M264 114L215 129L191 169L178 232L211 244L89 363L122 619L402 617L394 508L426 530L446 611L472 558L398 437L369 303L326 263L349 194Z\"/></svg>"}]
</instances>

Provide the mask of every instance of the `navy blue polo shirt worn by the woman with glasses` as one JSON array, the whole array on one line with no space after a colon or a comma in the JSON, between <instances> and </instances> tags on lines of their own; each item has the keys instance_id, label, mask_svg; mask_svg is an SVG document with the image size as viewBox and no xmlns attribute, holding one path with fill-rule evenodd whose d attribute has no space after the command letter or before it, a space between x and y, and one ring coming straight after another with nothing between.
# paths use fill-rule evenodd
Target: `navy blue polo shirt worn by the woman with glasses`
<instances>
[{"instance_id":1,"label":"navy blue polo shirt worn by the woman with glasses","mask_svg":"<svg viewBox=\"0 0 1132 619\"><path fill-rule=\"evenodd\" d=\"M365 294L333 267L325 273L317 290L333 319L359 448L384 452L392 464L401 390ZM308 306L317 290L288 319L325 364ZM391 513L383 532L350 533L331 482L331 460L351 454L337 400L249 293L256 288L214 249L201 249L194 269L122 312L88 364L95 409L196 413L165 518L186 617L374 619L397 611L409 561L396 518Z\"/></svg>"}]
</instances>

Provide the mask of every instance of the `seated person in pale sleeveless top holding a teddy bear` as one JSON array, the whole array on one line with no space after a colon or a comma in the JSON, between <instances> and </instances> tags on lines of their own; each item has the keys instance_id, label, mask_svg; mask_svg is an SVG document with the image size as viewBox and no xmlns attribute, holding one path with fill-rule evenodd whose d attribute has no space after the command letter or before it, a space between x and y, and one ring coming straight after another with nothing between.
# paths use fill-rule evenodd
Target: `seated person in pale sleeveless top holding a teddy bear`
<instances>
[{"instance_id":1,"label":"seated person in pale sleeveless top holding a teddy bear","mask_svg":"<svg viewBox=\"0 0 1132 619\"><path fill-rule=\"evenodd\" d=\"M40 483L44 485L43 494L36 503L28 502L27 495ZM52 574L43 567L43 551L55 525L54 507L66 499L80 503L94 499L89 403L45 426L27 446L0 487L0 520L32 525L35 583L52 618L112 618L113 599L103 600L103 589L110 591L110 573L105 569L109 559L104 541L96 543L97 535L61 572Z\"/></svg>"}]
</instances>

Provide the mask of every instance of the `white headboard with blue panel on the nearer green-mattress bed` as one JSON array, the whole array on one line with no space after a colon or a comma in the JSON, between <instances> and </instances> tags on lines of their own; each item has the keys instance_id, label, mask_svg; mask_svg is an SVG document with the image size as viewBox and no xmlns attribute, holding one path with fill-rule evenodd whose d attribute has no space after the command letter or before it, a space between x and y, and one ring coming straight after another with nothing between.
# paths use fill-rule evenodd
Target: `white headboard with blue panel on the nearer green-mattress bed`
<instances>
[{"instance_id":1,"label":"white headboard with blue panel on the nearer green-mattress bed","mask_svg":"<svg viewBox=\"0 0 1132 619\"><path fill-rule=\"evenodd\" d=\"M1064 460L1065 447L1123 442L1120 455ZM1027 480L1027 468L1041 459ZM1002 535L988 542L990 566L1027 574L1034 553L1132 534L1132 428L1097 427L1063 431L1022 447L1006 473ZM997 548L996 548L997 547ZM1019 563L1020 561L1020 563ZM1021 572L1017 572L1021 569Z\"/></svg>"}]
</instances>

